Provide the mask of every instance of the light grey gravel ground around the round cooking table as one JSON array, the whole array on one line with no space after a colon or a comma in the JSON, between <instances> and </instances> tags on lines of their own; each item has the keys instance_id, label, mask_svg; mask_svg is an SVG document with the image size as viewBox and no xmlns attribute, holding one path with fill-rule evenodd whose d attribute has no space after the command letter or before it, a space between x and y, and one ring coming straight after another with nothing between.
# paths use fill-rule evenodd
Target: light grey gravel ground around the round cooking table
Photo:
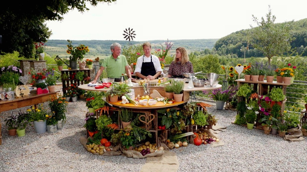
<instances>
[{"instance_id":1,"label":"light grey gravel ground around the round cooking table","mask_svg":"<svg viewBox=\"0 0 307 172\"><path fill-rule=\"evenodd\" d=\"M60 91L61 87L56 89ZM48 105L48 103L44 103ZM15 109L25 111L26 108ZM0 145L0 171L140 171L146 159L125 156L98 156L87 152L79 139L86 136L83 128L87 112L85 100L68 104L67 122L56 133L36 134L33 125L26 128L23 137L8 136L3 120L12 114L0 114L2 145ZM227 127L219 134L224 146L188 145L171 150L179 161L178 171L307 171L306 140L285 141L279 136L266 135L263 130L249 130L231 124L235 112L208 111ZM167 169L165 169L167 171Z\"/></svg>"}]
</instances>

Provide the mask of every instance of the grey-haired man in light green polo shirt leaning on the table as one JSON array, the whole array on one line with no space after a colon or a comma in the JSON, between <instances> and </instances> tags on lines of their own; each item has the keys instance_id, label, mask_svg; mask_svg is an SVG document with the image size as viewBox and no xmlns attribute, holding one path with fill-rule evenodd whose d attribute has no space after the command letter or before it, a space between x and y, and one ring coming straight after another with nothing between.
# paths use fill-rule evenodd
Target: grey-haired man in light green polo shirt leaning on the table
<instances>
[{"instance_id":1,"label":"grey-haired man in light green polo shirt leaning on the table","mask_svg":"<svg viewBox=\"0 0 307 172\"><path fill-rule=\"evenodd\" d=\"M119 43L112 43L110 49L112 55L104 58L100 69L97 71L95 79L91 81L92 84L97 82L104 68L107 68L107 75L109 78L115 78L115 81L120 81L123 73L126 73L128 78L131 78L131 72L128 68L127 59L124 55L120 54L121 45ZM131 80L135 80L131 78Z\"/></svg>"}]
</instances>

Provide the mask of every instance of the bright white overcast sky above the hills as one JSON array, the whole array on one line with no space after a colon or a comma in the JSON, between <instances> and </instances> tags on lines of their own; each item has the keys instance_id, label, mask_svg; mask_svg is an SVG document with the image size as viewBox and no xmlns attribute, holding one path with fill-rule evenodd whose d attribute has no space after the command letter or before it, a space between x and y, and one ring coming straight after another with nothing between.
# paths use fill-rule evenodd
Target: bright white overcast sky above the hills
<instances>
[{"instance_id":1,"label":"bright white overcast sky above the hills","mask_svg":"<svg viewBox=\"0 0 307 172\"><path fill-rule=\"evenodd\" d=\"M125 40L126 28L135 31L134 41L219 39L256 26L252 14L265 17L269 5L275 23L307 18L305 0L117 0L115 3L88 5L63 21L47 22L49 39Z\"/></svg>"}]
</instances>

